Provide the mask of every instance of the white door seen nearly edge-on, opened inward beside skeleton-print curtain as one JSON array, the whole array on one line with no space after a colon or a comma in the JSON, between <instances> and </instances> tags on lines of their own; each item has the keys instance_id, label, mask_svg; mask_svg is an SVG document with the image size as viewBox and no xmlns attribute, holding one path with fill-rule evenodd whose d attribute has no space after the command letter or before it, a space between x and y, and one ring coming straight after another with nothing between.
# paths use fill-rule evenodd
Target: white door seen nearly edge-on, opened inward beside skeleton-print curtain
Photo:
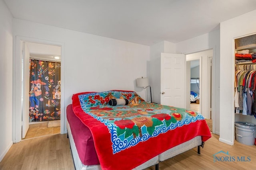
<instances>
[{"instance_id":1,"label":"white door seen nearly edge-on, opened inward beside skeleton-print curtain","mask_svg":"<svg viewBox=\"0 0 256 170\"><path fill-rule=\"evenodd\" d=\"M22 138L25 138L29 127L29 49L22 43Z\"/></svg>"}]
</instances>

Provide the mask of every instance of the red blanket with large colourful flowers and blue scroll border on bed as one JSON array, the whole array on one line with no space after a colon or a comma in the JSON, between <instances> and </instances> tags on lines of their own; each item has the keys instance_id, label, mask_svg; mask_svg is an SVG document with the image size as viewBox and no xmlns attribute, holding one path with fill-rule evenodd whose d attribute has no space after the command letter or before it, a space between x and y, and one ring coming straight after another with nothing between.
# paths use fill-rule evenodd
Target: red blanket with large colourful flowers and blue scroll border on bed
<instances>
[{"instance_id":1,"label":"red blanket with large colourful flowers and blue scroll border on bed","mask_svg":"<svg viewBox=\"0 0 256 170\"><path fill-rule=\"evenodd\" d=\"M129 105L108 105L114 98ZM72 100L74 113L92 132L102 169L132 169L198 135L202 141L211 137L201 114L147 103L136 92L88 92Z\"/></svg>"}]
</instances>

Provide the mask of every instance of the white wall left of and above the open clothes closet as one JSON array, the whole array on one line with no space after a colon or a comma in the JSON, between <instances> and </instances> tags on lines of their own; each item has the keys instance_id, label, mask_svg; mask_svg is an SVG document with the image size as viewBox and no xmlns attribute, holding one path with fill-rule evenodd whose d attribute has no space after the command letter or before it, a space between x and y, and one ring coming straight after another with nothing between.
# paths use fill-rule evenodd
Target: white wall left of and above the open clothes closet
<instances>
[{"instance_id":1,"label":"white wall left of and above the open clothes closet","mask_svg":"<svg viewBox=\"0 0 256 170\"><path fill-rule=\"evenodd\" d=\"M256 10L220 23L220 141L234 145L234 39L256 33ZM240 22L250 26L242 26Z\"/></svg>"}]
</instances>

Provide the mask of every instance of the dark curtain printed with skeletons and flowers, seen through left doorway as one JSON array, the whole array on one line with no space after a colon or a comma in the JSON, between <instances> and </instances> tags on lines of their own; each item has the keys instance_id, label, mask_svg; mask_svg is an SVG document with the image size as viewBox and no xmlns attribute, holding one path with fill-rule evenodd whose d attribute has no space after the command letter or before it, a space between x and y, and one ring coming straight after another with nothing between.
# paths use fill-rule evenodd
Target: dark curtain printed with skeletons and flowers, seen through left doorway
<instances>
[{"instance_id":1,"label":"dark curtain printed with skeletons and flowers, seen through left doorway","mask_svg":"<svg viewBox=\"0 0 256 170\"><path fill-rule=\"evenodd\" d=\"M30 122L60 119L60 87L60 63L30 59Z\"/></svg>"}]
</instances>

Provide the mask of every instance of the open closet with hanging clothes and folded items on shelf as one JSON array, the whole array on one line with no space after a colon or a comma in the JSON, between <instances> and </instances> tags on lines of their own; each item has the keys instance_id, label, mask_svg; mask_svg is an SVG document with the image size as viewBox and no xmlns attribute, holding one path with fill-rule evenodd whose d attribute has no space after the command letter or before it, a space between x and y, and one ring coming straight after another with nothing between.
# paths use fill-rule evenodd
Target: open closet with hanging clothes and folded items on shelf
<instances>
[{"instance_id":1,"label":"open closet with hanging clothes and folded items on shelf","mask_svg":"<svg viewBox=\"0 0 256 170\"><path fill-rule=\"evenodd\" d=\"M235 39L235 121L256 124L256 34Z\"/></svg>"}]
</instances>

